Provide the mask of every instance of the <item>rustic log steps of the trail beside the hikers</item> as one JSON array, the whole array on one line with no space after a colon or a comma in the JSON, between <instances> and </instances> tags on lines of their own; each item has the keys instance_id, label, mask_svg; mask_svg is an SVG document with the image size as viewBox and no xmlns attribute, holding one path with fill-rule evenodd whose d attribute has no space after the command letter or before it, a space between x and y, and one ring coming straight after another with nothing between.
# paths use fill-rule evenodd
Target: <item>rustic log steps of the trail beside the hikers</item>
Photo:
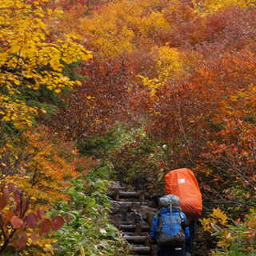
<instances>
[{"instance_id":1,"label":"rustic log steps of the trail beside the hikers","mask_svg":"<svg viewBox=\"0 0 256 256\"><path fill-rule=\"evenodd\" d=\"M124 238L132 246L130 253L156 256L157 246L150 248L148 234L154 215L158 213L154 198L162 194L147 194L143 190L136 190L134 186L115 182L109 196L114 207L110 214L110 223L122 231Z\"/></svg>"}]
</instances>

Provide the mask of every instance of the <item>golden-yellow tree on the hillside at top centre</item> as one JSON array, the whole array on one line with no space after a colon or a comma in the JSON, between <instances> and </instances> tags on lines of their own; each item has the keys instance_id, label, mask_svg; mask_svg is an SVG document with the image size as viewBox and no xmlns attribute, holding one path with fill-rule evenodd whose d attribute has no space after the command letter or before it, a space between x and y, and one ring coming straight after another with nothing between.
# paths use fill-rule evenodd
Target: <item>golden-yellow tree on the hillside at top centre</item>
<instances>
[{"instance_id":1,"label":"golden-yellow tree on the hillside at top centre","mask_svg":"<svg viewBox=\"0 0 256 256\"><path fill-rule=\"evenodd\" d=\"M98 54L130 54L142 35L148 37L154 30L170 27L161 12L169 4L155 0L111 2L84 18L80 31L92 49L100 51Z\"/></svg>"}]
</instances>

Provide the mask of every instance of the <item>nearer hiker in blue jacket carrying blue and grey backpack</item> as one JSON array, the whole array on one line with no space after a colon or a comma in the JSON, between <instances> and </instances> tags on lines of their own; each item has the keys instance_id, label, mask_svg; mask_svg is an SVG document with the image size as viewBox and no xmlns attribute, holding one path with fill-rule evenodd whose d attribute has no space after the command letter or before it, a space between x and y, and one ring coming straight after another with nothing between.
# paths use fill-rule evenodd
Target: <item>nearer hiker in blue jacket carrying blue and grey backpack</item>
<instances>
[{"instance_id":1,"label":"nearer hiker in blue jacket carrying blue and grey backpack","mask_svg":"<svg viewBox=\"0 0 256 256\"><path fill-rule=\"evenodd\" d=\"M153 218L150 244L158 244L158 256L184 256L185 239L190 236L189 221L180 208L178 196L169 194L158 199L160 210Z\"/></svg>"}]
</instances>

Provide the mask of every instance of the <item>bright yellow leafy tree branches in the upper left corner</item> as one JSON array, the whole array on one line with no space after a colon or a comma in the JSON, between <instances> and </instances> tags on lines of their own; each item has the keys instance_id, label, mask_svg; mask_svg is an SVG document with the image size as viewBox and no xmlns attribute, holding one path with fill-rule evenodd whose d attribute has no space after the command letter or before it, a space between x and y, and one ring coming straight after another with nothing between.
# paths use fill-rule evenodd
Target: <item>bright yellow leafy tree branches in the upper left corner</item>
<instances>
[{"instance_id":1,"label":"bright yellow leafy tree branches in the upper left corner","mask_svg":"<svg viewBox=\"0 0 256 256\"><path fill-rule=\"evenodd\" d=\"M42 0L46 2L46 0ZM0 122L11 122L21 128L31 126L31 117L40 108L29 106L22 98L27 90L45 87L58 94L63 88L73 88L62 74L64 65L86 61L86 51L75 38L63 34L54 40L44 19L54 19L58 10L44 10L41 2L0 1ZM43 111L43 110L42 110Z\"/></svg>"}]
</instances>

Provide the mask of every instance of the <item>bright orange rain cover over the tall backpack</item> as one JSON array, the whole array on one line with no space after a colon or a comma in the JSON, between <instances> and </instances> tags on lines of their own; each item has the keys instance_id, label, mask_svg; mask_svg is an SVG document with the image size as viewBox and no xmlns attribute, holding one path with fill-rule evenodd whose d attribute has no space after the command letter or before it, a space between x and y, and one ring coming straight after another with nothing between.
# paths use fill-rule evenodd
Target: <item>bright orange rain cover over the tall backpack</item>
<instances>
[{"instance_id":1,"label":"bright orange rain cover over the tall backpack","mask_svg":"<svg viewBox=\"0 0 256 256\"><path fill-rule=\"evenodd\" d=\"M166 194L175 194L181 199L182 212L190 221L202 212L202 194L191 170L171 170L165 176Z\"/></svg>"}]
</instances>

